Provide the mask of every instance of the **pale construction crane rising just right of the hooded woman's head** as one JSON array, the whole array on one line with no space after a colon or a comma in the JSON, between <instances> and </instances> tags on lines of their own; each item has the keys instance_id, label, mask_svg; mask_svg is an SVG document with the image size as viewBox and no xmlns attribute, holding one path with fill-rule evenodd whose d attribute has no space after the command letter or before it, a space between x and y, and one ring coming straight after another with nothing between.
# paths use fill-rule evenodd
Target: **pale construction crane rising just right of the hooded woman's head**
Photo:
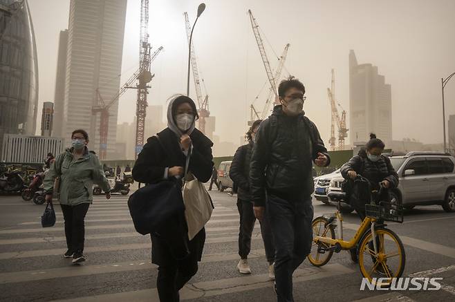
<instances>
[{"instance_id":1,"label":"pale construction crane rising just right of the hooded woman's head","mask_svg":"<svg viewBox=\"0 0 455 302\"><path fill-rule=\"evenodd\" d=\"M187 29L187 39L189 43L189 37L191 36L191 24L189 23L188 13L184 12L183 15L185 16L185 27ZM209 96L205 94L203 97L201 91L201 80L199 79L199 71L198 65L196 62L196 52L194 51L194 41L190 46L190 56L191 56L191 64L192 64L192 72L193 72L193 79L194 79L194 87L196 90L196 97L198 99L198 115L199 115L199 126L198 129L205 134L205 119L210 116L209 111Z\"/></svg>"}]
</instances>

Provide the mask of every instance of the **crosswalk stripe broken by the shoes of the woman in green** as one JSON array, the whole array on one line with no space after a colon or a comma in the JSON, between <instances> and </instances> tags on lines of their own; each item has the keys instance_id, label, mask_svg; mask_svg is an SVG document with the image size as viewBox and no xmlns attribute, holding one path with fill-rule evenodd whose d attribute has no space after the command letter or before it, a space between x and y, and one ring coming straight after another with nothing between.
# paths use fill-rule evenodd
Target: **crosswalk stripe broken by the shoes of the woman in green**
<instances>
[{"instance_id":1,"label":"crosswalk stripe broken by the shoes of the woman in green","mask_svg":"<svg viewBox=\"0 0 455 302\"><path fill-rule=\"evenodd\" d=\"M129 243L129 244L118 244L118 245L104 245L95 247L86 247L84 253L93 252L113 252L128 249L151 249L150 239L145 236L144 240L148 243ZM252 240L259 240L261 237L252 238ZM239 240L239 236L227 236L227 237L213 237L207 238L205 243L230 243ZM63 248L59 249L35 249L32 251L17 251L17 252L5 252L0 253L0 260L13 259L13 258L32 258L41 256L53 256L62 255L64 253Z\"/></svg>"}]
</instances>

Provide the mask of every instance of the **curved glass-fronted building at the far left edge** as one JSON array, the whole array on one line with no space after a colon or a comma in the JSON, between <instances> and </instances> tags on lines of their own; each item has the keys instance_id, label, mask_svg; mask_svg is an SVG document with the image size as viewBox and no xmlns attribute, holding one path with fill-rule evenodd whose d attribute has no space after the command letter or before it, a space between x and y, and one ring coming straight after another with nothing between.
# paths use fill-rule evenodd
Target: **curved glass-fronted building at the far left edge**
<instances>
[{"instance_id":1,"label":"curved glass-fronted building at the far left edge","mask_svg":"<svg viewBox=\"0 0 455 302\"><path fill-rule=\"evenodd\" d=\"M0 142L6 133L34 135L37 106L37 48L28 1L0 0Z\"/></svg>"}]
</instances>

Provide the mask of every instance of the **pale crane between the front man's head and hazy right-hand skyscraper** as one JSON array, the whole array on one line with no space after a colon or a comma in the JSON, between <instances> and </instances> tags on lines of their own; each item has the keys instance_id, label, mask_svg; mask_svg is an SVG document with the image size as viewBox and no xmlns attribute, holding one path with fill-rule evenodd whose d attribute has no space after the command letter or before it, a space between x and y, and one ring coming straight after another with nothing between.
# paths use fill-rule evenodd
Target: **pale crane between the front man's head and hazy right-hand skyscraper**
<instances>
[{"instance_id":1,"label":"pale crane between the front man's head and hazy right-hand skyscraper","mask_svg":"<svg viewBox=\"0 0 455 302\"><path fill-rule=\"evenodd\" d=\"M335 124L338 128L338 150L344 150L344 139L348 137L348 129L346 129L346 111L342 111L342 117L338 113L337 103L335 101L335 71L332 69L332 81L331 88L327 88L328 100L331 103L332 110L332 122L331 122L331 138L328 143L331 146L331 150L336 149L336 138L335 138ZM338 105L340 106L340 105Z\"/></svg>"}]
</instances>

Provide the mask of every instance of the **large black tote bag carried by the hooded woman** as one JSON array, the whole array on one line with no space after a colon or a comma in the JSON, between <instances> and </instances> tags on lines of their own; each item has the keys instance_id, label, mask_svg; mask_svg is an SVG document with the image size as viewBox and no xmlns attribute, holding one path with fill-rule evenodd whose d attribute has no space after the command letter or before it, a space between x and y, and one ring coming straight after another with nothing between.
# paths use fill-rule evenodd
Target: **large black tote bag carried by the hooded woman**
<instances>
[{"instance_id":1,"label":"large black tote bag carried by the hooded woman","mask_svg":"<svg viewBox=\"0 0 455 302\"><path fill-rule=\"evenodd\" d=\"M176 180L146 185L128 199L129 214L142 235L160 232L160 226L176 214L183 214L182 190Z\"/></svg>"}]
</instances>

